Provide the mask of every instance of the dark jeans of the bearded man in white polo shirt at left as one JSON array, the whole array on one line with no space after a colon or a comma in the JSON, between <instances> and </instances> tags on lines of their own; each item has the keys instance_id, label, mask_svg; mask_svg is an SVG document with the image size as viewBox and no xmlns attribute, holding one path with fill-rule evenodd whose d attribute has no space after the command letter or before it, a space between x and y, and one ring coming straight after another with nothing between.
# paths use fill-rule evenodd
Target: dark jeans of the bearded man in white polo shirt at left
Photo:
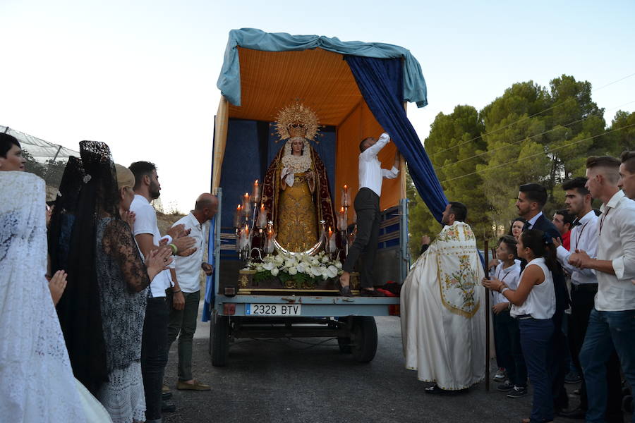
<instances>
[{"instance_id":1,"label":"dark jeans of the bearded man in white polo shirt at left","mask_svg":"<svg viewBox=\"0 0 635 423\"><path fill-rule=\"evenodd\" d=\"M169 310L165 297L148 298L141 338L141 374L146 423L161 422L161 387L167 364Z\"/></svg>"}]
</instances>

